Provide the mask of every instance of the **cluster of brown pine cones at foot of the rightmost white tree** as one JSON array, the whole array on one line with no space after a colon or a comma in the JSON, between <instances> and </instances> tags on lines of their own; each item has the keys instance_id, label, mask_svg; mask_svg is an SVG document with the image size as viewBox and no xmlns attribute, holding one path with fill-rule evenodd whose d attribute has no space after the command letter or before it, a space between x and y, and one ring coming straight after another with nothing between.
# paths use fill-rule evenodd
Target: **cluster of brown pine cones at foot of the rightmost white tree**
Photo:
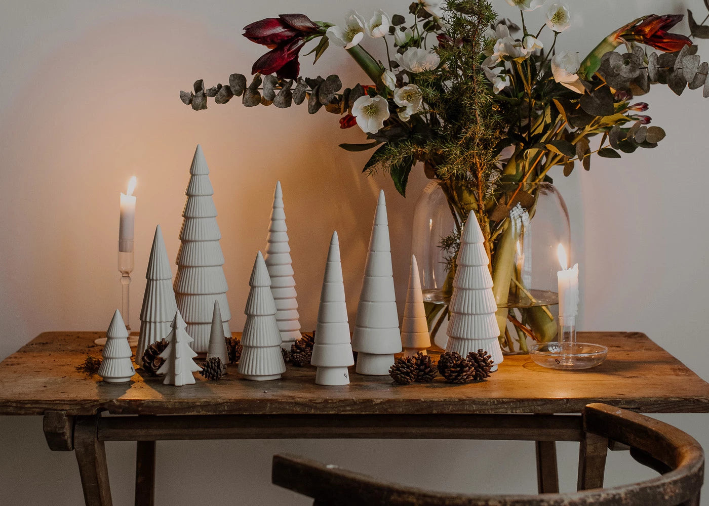
<instances>
[{"instance_id":1,"label":"cluster of brown pine cones at foot of the rightmost white tree","mask_svg":"<svg viewBox=\"0 0 709 506\"><path fill-rule=\"evenodd\" d=\"M449 383L473 383L489 378L493 365L491 359L488 352L479 349L465 357L456 352L446 352L434 364L430 356L418 352L415 356L396 359L389 374L400 385L430 383L436 377L436 372Z\"/></svg>"}]
</instances>

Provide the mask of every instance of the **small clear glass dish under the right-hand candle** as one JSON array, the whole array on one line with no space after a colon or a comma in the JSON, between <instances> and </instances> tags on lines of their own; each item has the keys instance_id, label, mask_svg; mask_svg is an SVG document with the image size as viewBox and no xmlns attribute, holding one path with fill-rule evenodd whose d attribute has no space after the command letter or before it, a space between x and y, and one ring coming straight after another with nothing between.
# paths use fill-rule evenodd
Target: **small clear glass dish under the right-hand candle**
<instances>
[{"instance_id":1,"label":"small clear glass dish under the right-hand candle","mask_svg":"<svg viewBox=\"0 0 709 506\"><path fill-rule=\"evenodd\" d=\"M591 369L605 360L608 348L589 342L545 342L530 346L530 358L548 369Z\"/></svg>"}]
</instances>

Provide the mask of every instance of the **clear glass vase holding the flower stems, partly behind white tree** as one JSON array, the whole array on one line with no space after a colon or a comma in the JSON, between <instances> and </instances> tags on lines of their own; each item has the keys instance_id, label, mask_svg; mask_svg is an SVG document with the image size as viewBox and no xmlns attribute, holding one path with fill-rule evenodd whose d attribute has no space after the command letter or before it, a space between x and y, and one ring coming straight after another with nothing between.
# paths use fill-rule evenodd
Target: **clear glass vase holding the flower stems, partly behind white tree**
<instances>
[{"instance_id":1,"label":"clear glass vase holding the flower stems, partly behind white tree","mask_svg":"<svg viewBox=\"0 0 709 506\"><path fill-rule=\"evenodd\" d=\"M466 181L431 181L418 199L412 252L418 260L432 342L445 349L457 239L470 210L486 231L500 344L527 353L557 336L557 248L570 250L569 213L550 183L499 184L482 216Z\"/></svg>"}]
</instances>

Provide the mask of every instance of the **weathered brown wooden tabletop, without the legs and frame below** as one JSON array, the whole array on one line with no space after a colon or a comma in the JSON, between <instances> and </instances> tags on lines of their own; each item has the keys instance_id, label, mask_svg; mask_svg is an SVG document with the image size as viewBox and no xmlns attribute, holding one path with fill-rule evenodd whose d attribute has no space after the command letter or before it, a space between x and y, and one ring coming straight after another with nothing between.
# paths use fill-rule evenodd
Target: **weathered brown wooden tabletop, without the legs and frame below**
<instances>
[{"instance_id":1,"label":"weathered brown wooden tabletop, without the legs and frame below","mask_svg":"<svg viewBox=\"0 0 709 506\"><path fill-rule=\"evenodd\" d=\"M94 339L101 335L45 332L2 361L0 415L578 413L596 402L640 412L709 412L709 383L635 332L580 332L579 341L608 347L608 359L586 371L544 369L518 355L506 356L484 383L454 386L437 378L398 386L389 376L352 371L352 383L340 387L317 386L314 368L295 366L276 381L245 381L229 366L223 380L198 374L182 387L140 370L129 383L103 383L75 369L86 352L100 356Z\"/></svg>"}]
</instances>

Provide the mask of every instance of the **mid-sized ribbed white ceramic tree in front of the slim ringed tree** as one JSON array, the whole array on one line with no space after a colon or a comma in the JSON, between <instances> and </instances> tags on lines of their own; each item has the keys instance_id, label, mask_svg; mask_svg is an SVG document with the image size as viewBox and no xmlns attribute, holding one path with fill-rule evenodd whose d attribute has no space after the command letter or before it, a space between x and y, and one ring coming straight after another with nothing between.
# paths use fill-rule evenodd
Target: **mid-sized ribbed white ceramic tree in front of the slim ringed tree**
<instances>
[{"instance_id":1,"label":"mid-sized ribbed white ceramic tree in front of the slim ringed tree","mask_svg":"<svg viewBox=\"0 0 709 506\"><path fill-rule=\"evenodd\" d=\"M249 286L238 371L250 380L278 379L286 371L286 364L281 353L281 332L276 322L271 279L261 252L256 255Z\"/></svg>"}]
</instances>

